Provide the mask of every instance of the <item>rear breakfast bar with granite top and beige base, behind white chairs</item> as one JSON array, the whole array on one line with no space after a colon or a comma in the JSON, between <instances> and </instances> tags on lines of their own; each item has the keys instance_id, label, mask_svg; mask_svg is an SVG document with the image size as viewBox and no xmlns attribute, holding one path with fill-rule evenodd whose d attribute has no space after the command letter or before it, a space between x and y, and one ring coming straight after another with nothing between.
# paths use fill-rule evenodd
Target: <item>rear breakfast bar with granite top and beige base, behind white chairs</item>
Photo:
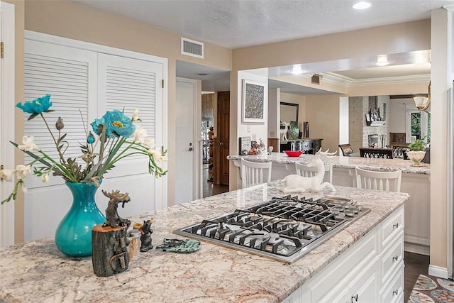
<instances>
[{"instance_id":1,"label":"rear breakfast bar with granite top and beige base, behind white chairs","mask_svg":"<svg viewBox=\"0 0 454 303\"><path fill-rule=\"evenodd\" d=\"M287 175L295 174L295 162L308 163L314 155L289 157L284 153L272 155L229 155L227 158L240 167L240 159L250 161L272 161L271 180L281 180ZM387 172L402 170L401 192L410 194L405 206L405 250L411 253L429 255L430 250L430 201L431 201L431 165L421 163L414 167L411 160L377 159L360 157L338 157L322 155L324 163L333 165L333 185L356 187L355 166L365 170ZM238 169L239 175L239 169ZM240 180L240 178L238 178ZM231 184L231 188L232 188ZM235 188L235 187L234 187ZM236 188L240 188L237 184Z\"/></svg>"}]
</instances>

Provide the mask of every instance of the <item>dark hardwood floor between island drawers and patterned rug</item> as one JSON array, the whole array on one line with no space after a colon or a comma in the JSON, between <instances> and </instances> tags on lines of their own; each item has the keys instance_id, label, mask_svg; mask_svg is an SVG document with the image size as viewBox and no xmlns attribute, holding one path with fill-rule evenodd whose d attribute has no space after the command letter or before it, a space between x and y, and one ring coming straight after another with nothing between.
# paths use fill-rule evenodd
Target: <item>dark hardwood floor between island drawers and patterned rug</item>
<instances>
[{"instance_id":1,"label":"dark hardwood floor between island drawers and patterned rug","mask_svg":"<svg viewBox=\"0 0 454 303\"><path fill-rule=\"evenodd\" d=\"M428 255L419 255L417 253L404 253L405 263L405 291L404 302L407 302L413 290L414 283L419 275L428 275L428 265L430 258Z\"/></svg>"}]
</instances>

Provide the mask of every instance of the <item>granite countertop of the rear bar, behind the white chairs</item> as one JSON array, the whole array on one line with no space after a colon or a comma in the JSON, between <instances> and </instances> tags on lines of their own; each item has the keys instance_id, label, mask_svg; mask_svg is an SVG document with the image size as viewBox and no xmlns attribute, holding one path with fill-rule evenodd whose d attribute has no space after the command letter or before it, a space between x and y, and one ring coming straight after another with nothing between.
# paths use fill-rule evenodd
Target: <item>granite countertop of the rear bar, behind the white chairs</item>
<instances>
[{"instance_id":1,"label":"granite countertop of the rear bar, behind the white chairs","mask_svg":"<svg viewBox=\"0 0 454 303\"><path fill-rule=\"evenodd\" d=\"M240 160L244 158L249 161L266 162L272 161L279 164L294 164L294 162L302 162L306 164L314 155L300 155L299 157L289 157L285 153L272 153L271 155L228 155L228 160ZM378 159L378 158L360 158L360 157L339 157L322 155L323 163L331 163L333 167L355 168L358 166L362 169L377 170L387 172L400 169L402 172L411 174L430 175L431 165L421 163L422 166L414 167L411 165L411 160L403 159Z\"/></svg>"}]
</instances>

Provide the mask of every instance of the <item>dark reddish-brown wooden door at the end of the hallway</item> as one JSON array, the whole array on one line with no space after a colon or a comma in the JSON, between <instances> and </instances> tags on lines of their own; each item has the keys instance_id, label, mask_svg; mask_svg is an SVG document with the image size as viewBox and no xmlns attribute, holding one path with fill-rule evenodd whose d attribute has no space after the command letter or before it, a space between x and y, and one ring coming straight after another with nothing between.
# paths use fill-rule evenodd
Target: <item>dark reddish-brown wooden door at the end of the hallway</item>
<instances>
[{"instance_id":1,"label":"dark reddish-brown wooden door at the end of the hallway","mask_svg":"<svg viewBox=\"0 0 454 303\"><path fill-rule=\"evenodd\" d=\"M228 166L227 156L229 155L230 139L230 92L218 92L218 148L219 153L219 183L228 185Z\"/></svg>"}]
</instances>

